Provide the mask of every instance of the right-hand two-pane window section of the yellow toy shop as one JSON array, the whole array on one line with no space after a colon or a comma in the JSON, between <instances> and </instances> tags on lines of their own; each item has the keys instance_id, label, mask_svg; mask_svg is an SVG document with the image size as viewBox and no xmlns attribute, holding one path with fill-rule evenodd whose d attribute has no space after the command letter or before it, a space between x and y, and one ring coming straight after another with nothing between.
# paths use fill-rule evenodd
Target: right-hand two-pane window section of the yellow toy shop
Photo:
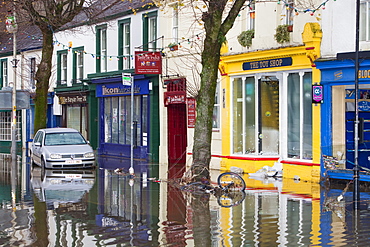
<instances>
[{"instance_id":1,"label":"right-hand two-pane window section of the yellow toy shop","mask_svg":"<svg viewBox=\"0 0 370 247\"><path fill-rule=\"evenodd\" d=\"M288 76L288 158L312 159L311 73Z\"/></svg>"}]
</instances>

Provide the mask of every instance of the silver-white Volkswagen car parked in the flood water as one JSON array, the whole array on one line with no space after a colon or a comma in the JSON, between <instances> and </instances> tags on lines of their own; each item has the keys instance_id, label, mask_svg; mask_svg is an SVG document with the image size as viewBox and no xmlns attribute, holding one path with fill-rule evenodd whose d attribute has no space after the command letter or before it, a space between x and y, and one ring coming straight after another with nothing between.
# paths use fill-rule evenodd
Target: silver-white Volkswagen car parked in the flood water
<instances>
[{"instance_id":1,"label":"silver-white Volkswagen car parked in the flood water","mask_svg":"<svg viewBox=\"0 0 370 247\"><path fill-rule=\"evenodd\" d=\"M37 131L30 147L31 164L41 168L92 168L95 154L75 129L48 128Z\"/></svg>"}]
</instances>

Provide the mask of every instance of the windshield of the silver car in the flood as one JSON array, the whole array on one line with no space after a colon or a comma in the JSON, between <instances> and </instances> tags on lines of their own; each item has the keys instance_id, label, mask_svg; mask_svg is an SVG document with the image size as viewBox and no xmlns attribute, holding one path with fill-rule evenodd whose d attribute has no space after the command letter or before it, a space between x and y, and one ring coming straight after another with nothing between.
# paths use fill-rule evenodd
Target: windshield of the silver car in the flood
<instances>
[{"instance_id":1,"label":"windshield of the silver car in the flood","mask_svg":"<svg viewBox=\"0 0 370 247\"><path fill-rule=\"evenodd\" d=\"M45 136L45 146L86 144L80 133L50 133Z\"/></svg>"}]
</instances>

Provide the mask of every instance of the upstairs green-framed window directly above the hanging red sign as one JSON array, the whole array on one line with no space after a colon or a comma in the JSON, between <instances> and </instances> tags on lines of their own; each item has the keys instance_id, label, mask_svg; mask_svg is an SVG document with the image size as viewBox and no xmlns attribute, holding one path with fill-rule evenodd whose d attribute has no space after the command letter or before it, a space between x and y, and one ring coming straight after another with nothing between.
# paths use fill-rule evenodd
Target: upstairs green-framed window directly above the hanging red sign
<instances>
[{"instance_id":1,"label":"upstairs green-framed window directly above the hanging red sign","mask_svg":"<svg viewBox=\"0 0 370 247\"><path fill-rule=\"evenodd\" d=\"M157 12L151 12L143 17L143 49L156 51L157 48Z\"/></svg>"}]
</instances>

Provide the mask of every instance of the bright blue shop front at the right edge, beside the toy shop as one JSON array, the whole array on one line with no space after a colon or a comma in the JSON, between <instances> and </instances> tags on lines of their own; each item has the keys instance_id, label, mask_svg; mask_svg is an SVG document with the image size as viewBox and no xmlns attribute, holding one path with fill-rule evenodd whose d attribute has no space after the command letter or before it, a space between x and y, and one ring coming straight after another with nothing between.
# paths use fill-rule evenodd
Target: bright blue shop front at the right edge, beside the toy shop
<instances>
[{"instance_id":1,"label":"bright blue shop front at the right edge, beside the toy shop","mask_svg":"<svg viewBox=\"0 0 370 247\"><path fill-rule=\"evenodd\" d=\"M353 179L355 157L355 54L340 53L336 59L316 61L321 71L321 171L333 179ZM360 180L370 181L370 54L360 52L358 70ZM370 171L370 170L369 170Z\"/></svg>"}]
</instances>

